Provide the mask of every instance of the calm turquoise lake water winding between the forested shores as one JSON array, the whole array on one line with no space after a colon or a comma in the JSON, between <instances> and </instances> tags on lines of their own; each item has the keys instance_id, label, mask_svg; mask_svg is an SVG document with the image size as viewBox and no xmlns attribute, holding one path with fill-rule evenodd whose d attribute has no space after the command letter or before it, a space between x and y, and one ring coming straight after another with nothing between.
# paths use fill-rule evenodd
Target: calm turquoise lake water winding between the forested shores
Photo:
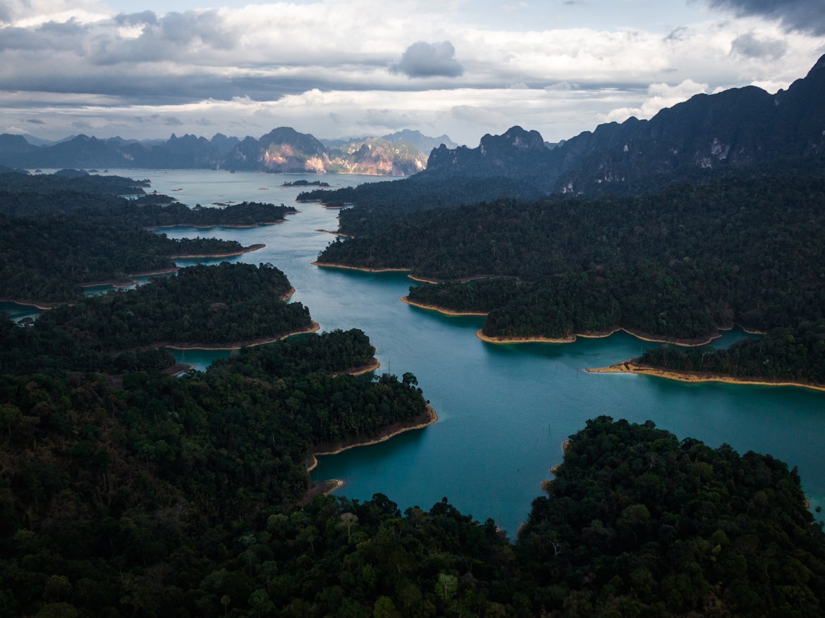
<instances>
[{"instance_id":1,"label":"calm turquoise lake water winding between the forested shores","mask_svg":"<svg viewBox=\"0 0 825 618\"><path fill-rule=\"evenodd\" d=\"M587 419L652 419L678 438L723 442L739 452L771 453L798 466L812 506L825 498L825 393L804 389L684 384L632 374L595 374L648 347L623 333L575 344L484 344L482 319L447 317L399 301L412 283L404 274L367 274L311 265L332 240L336 211L295 204L299 189L281 188L302 176L224 171L111 171L148 177L153 190L184 204L244 199L294 204L300 213L281 225L252 229L164 230L168 236L214 236L262 250L237 260L271 262L309 307L323 330L359 328L378 349L380 372L413 372L439 421L370 447L320 458L315 479L345 481L339 493L370 499L381 492L405 508L430 508L446 496L463 513L493 517L515 535L541 480L561 461L562 442ZM379 180L370 176L308 176L333 187ZM195 261L181 260L179 265ZM217 262L219 260L211 260ZM723 344L744 336L725 334ZM178 358L205 367L215 353L187 350ZM219 353L218 353L219 355ZM820 517L820 516L818 516Z\"/></svg>"}]
</instances>

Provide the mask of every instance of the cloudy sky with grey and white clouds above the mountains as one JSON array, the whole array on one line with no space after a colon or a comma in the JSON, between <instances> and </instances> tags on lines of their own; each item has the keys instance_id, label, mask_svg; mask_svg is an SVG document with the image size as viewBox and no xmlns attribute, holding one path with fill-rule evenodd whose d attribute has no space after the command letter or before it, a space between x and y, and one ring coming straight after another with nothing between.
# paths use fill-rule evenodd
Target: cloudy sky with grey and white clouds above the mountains
<instances>
[{"instance_id":1,"label":"cloudy sky with grey and white clouds above the mountains","mask_svg":"<svg viewBox=\"0 0 825 618\"><path fill-rule=\"evenodd\" d=\"M0 133L554 142L823 54L825 0L0 0Z\"/></svg>"}]
</instances>

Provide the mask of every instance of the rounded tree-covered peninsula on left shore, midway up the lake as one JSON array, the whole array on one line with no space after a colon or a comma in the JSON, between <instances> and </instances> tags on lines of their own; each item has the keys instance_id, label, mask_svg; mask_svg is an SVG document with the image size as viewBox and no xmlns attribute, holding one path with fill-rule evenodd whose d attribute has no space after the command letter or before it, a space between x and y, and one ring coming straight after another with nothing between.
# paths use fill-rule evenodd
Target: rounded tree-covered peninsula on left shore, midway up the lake
<instances>
[{"instance_id":1,"label":"rounded tree-covered peninsula on left shore, midway up the lake","mask_svg":"<svg viewBox=\"0 0 825 618\"><path fill-rule=\"evenodd\" d=\"M290 289L285 274L271 264L196 265L134 290L56 307L33 328L64 330L89 348L105 350L276 339L312 324L306 307L284 302Z\"/></svg>"}]
</instances>

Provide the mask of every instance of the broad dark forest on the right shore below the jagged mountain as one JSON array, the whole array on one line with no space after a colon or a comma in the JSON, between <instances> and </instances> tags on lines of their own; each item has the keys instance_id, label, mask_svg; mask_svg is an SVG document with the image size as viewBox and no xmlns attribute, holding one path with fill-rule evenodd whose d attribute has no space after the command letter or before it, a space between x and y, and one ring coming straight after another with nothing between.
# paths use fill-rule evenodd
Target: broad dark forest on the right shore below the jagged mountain
<instances>
[{"instance_id":1,"label":"broad dark forest on the right shore below the jagged mountain","mask_svg":"<svg viewBox=\"0 0 825 618\"><path fill-rule=\"evenodd\" d=\"M319 260L412 264L422 279L501 278L411 290L422 304L490 311L485 335L563 338L622 326L696 339L733 322L768 330L821 321L823 231L825 181L723 179L631 198L441 209L339 237Z\"/></svg>"}]
</instances>

